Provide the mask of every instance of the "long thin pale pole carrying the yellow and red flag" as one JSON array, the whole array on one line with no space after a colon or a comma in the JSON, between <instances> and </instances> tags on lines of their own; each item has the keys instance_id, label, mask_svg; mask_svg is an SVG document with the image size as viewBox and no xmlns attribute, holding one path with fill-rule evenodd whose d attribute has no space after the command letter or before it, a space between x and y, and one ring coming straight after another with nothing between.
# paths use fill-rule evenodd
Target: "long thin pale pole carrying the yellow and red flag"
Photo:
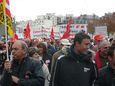
<instances>
[{"instance_id":1,"label":"long thin pale pole carrying the yellow and red flag","mask_svg":"<svg viewBox=\"0 0 115 86\"><path fill-rule=\"evenodd\" d=\"M8 32L7 32L8 30L7 30L6 10L5 10L6 0L3 0L3 4L4 4L4 27L5 27L5 38L6 38L6 56L7 56L6 60L10 60L9 59L9 52L8 52Z\"/></svg>"}]
</instances>

